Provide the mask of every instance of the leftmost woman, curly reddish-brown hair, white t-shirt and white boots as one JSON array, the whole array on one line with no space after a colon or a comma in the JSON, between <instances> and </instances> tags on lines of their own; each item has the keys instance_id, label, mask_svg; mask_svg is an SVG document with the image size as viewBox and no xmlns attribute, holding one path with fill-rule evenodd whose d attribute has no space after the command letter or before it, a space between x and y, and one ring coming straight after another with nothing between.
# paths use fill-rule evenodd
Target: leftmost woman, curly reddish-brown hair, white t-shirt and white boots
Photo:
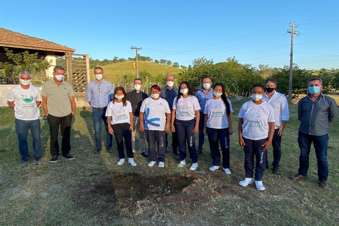
<instances>
[{"instance_id":1,"label":"leftmost woman, curly reddish-brown hair, white t-shirt and white boots","mask_svg":"<svg viewBox=\"0 0 339 226\"><path fill-rule=\"evenodd\" d=\"M137 164L134 162L134 155L132 150L132 131L133 131L133 115L132 105L128 101L125 89L121 86L116 87L113 93L113 101L109 102L106 110L106 117L108 124L108 132L114 133L117 142L117 149L119 153L118 165L125 162L124 144L125 140L126 152L128 156L128 163L132 166Z\"/></svg>"}]
</instances>

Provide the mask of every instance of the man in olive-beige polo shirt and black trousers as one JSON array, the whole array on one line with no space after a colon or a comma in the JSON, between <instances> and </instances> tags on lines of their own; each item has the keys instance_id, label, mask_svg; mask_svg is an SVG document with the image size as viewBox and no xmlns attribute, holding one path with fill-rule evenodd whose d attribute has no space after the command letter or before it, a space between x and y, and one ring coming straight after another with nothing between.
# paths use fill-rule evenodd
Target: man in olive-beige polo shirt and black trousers
<instances>
[{"instance_id":1,"label":"man in olive-beige polo shirt and black trousers","mask_svg":"<svg viewBox=\"0 0 339 226\"><path fill-rule=\"evenodd\" d=\"M72 85L63 81L65 69L55 66L53 70L54 78L44 82L42 85L42 107L49 124L51 136L51 155L49 162L57 162L59 156L59 127L61 130L62 156L68 160L74 159L69 154L71 150L71 124L75 114L75 100Z\"/></svg>"}]
</instances>

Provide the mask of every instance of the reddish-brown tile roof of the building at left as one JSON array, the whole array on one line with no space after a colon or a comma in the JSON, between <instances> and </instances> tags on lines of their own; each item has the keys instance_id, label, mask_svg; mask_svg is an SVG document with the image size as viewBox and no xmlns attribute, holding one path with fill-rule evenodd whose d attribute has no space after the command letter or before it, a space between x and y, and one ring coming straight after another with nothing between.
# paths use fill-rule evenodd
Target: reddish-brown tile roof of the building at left
<instances>
[{"instance_id":1,"label":"reddish-brown tile roof of the building at left","mask_svg":"<svg viewBox=\"0 0 339 226\"><path fill-rule=\"evenodd\" d=\"M27 49L39 49L46 51L53 51L64 53L65 46L49 42L44 39L23 35L12 30L7 30L0 27L0 46L15 47L15 48L27 48ZM67 53L74 53L75 49L66 47Z\"/></svg>"}]
</instances>

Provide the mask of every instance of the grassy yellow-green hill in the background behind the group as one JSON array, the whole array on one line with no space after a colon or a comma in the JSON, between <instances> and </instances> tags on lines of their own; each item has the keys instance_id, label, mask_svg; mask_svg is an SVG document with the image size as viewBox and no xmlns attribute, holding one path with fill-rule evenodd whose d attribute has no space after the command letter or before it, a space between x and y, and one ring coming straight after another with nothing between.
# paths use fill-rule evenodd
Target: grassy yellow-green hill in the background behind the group
<instances>
[{"instance_id":1,"label":"grassy yellow-green hill in the background behind the group","mask_svg":"<svg viewBox=\"0 0 339 226\"><path fill-rule=\"evenodd\" d=\"M125 61L121 63L113 63L101 66L104 69L105 80L116 83L123 82L124 80L131 80L133 81L136 78L136 68L132 67L132 63L134 61ZM167 66L163 64L153 63L153 62L146 62L146 61L138 61L139 67L139 75L143 73L143 71L147 71L152 77L155 78L158 75L163 75L163 80L165 80L165 76L168 74L178 74L181 70L172 66ZM94 80L94 69L90 70L91 73L91 81ZM125 76L126 75L126 76ZM151 79L151 78L149 78ZM130 82L130 81L128 81Z\"/></svg>"}]
</instances>

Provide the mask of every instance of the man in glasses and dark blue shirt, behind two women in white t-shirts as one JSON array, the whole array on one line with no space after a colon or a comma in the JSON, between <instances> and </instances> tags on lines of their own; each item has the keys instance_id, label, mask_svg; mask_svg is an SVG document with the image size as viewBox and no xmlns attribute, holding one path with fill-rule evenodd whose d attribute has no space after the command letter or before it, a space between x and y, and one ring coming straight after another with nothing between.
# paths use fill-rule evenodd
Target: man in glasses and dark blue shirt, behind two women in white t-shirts
<instances>
[{"instance_id":1,"label":"man in glasses and dark blue shirt, behind two women in white t-shirts","mask_svg":"<svg viewBox=\"0 0 339 226\"><path fill-rule=\"evenodd\" d=\"M173 75L167 75L166 77L166 86L161 88L160 98L163 98L167 101L169 108L173 109L173 101L176 96L178 96L179 89L174 86L175 80ZM168 146L167 133L166 133L166 150ZM179 155L178 143L177 143L177 132L172 132L172 149L175 155Z\"/></svg>"}]
</instances>

